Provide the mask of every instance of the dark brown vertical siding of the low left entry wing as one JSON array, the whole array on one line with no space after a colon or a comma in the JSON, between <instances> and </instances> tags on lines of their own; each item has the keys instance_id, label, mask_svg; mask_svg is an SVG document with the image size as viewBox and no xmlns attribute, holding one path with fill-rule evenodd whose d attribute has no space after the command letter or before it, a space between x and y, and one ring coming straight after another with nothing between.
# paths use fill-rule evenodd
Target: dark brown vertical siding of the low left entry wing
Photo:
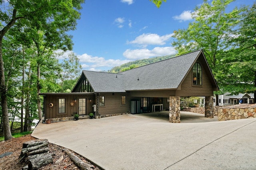
<instances>
[{"instance_id":1,"label":"dark brown vertical siding of the low left entry wing","mask_svg":"<svg viewBox=\"0 0 256 170\"><path fill-rule=\"evenodd\" d=\"M58 113L58 100L65 99L65 113ZM95 104L93 94L84 94L84 95L74 95L74 94L65 94L65 95L46 95L44 97L44 115L45 119L50 118L59 118L59 117L71 117L74 112L78 111L78 99L86 98L86 115L93 112L92 105ZM76 102L74 100L76 99ZM92 99L90 102L89 99ZM74 106L70 106L70 103L74 102ZM53 107L50 107L49 104L52 103Z\"/></svg>"}]
</instances>

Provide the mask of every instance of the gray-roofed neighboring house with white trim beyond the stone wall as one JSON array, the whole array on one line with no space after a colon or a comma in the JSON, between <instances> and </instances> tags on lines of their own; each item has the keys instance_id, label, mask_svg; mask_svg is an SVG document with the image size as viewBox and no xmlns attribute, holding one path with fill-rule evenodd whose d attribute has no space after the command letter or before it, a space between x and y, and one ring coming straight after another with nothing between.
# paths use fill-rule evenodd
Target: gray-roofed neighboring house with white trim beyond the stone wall
<instances>
[{"instance_id":1,"label":"gray-roofed neighboring house with white trim beyond the stone wall","mask_svg":"<svg viewBox=\"0 0 256 170\"><path fill-rule=\"evenodd\" d=\"M219 106L234 105L234 104L250 104L253 103L254 94L253 93L240 93L238 95L230 95L230 93L225 93L219 95L219 101L213 98L213 104L216 106L216 102L219 102Z\"/></svg>"}]
</instances>

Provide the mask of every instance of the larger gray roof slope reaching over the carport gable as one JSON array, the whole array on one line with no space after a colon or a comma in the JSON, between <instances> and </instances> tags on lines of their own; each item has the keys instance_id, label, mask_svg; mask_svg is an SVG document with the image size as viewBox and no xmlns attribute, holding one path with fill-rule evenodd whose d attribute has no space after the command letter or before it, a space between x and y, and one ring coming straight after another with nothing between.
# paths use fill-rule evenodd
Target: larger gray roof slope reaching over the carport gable
<instances>
[{"instance_id":1,"label":"larger gray roof slope reaching over the carport gable","mask_svg":"<svg viewBox=\"0 0 256 170\"><path fill-rule=\"evenodd\" d=\"M125 72L125 90L156 90L178 88L201 50ZM139 80L138 80L139 78Z\"/></svg>"}]
</instances>

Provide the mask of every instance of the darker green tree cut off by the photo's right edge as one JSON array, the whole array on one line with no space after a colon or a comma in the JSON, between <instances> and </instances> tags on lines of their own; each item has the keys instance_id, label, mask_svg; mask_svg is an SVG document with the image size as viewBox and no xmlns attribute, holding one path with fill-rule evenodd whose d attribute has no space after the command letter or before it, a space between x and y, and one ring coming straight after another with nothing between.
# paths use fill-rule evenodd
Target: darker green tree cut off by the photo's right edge
<instances>
[{"instance_id":1,"label":"darker green tree cut off by the photo's right edge","mask_svg":"<svg viewBox=\"0 0 256 170\"><path fill-rule=\"evenodd\" d=\"M256 1L242 14L239 27L230 37L229 56L224 65L231 93L254 93L256 102Z\"/></svg>"}]
</instances>

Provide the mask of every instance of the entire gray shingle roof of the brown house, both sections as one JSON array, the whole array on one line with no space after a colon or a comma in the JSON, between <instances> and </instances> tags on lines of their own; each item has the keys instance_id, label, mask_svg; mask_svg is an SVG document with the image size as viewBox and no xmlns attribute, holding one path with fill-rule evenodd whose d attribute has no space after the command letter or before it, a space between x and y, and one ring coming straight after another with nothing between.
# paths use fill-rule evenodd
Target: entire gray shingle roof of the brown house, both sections
<instances>
[{"instance_id":1,"label":"entire gray shingle roof of the brown house, both sections","mask_svg":"<svg viewBox=\"0 0 256 170\"><path fill-rule=\"evenodd\" d=\"M94 92L176 89L201 52L202 50L194 51L118 74L83 72Z\"/></svg>"}]
</instances>

